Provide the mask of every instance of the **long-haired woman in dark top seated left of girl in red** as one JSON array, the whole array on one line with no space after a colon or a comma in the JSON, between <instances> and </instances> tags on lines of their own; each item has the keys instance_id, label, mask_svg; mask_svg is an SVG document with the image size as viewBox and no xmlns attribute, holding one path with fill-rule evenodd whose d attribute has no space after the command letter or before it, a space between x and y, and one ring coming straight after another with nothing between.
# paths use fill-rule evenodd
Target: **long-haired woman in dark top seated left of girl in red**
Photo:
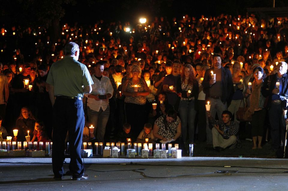
<instances>
[{"instance_id":1,"label":"long-haired woman in dark top seated left of girl in red","mask_svg":"<svg viewBox=\"0 0 288 191\"><path fill-rule=\"evenodd\" d=\"M27 131L33 132L35 125L35 118L28 107L22 107L21 113L16 120L16 128L18 129L18 141L24 141ZM16 140L14 140L16 141Z\"/></svg>"}]
</instances>

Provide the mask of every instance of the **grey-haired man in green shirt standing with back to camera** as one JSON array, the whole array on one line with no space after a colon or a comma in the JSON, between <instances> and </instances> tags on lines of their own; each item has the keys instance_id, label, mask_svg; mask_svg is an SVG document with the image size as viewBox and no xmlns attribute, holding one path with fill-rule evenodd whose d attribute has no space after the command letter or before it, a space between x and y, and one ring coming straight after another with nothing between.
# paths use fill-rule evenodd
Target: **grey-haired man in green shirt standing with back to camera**
<instances>
[{"instance_id":1,"label":"grey-haired man in green shirt standing with back to camera","mask_svg":"<svg viewBox=\"0 0 288 191\"><path fill-rule=\"evenodd\" d=\"M69 42L64 52L66 56L52 64L46 80L53 106L53 173L55 180L61 180L64 175L65 137L68 131L71 158L69 170L73 180L84 180L88 179L88 175L84 175L80 154L85 123L82 98L83 94L91 93L93 81L87 67L77 61L79 46Z\"/></svg>"}]
</instances>

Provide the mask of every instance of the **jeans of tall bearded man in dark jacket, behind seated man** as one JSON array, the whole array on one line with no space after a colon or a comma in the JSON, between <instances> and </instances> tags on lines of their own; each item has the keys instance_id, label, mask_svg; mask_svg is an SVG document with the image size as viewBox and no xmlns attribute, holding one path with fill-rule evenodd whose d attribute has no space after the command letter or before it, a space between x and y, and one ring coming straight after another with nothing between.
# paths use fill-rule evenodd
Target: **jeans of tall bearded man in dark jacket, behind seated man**
<instances>
[{"instance_id":1,"label":"jeans of tall bearded man in dark jacket, behind seated man","mask_svg":"<svg viewBox=\"0 0 288 191\"><path fill-rule=\"evenodd\" d=\"M210 100L210 113L213 118L216 117L216 112L219 120L222 120L222 112L227 110L227 102L224 104L221 99L209 98ZM212 144L212 128L209 128L209 121L206 122L206 136L207 144Z\"/></svg>"}]
</instances>

